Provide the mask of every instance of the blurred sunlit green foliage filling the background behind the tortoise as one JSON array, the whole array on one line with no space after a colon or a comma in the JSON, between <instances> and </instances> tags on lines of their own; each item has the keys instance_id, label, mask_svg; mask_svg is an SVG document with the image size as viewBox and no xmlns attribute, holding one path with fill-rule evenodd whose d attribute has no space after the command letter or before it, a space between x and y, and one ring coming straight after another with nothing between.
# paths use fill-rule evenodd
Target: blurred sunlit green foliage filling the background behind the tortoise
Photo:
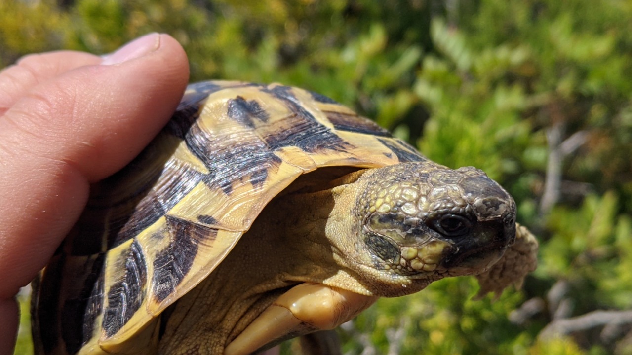
<instances>
[{"instance_id":1,"label":"blurred sunlit green foliage filling the background behind the tortoise","mask_svg":"<svg viewBox=\"0 0 632 355\"><path fill-rule=\"evenodd\" d=\"M346 354L624 355L630 323L540 332L632 309L631 15L625 0L4 0L0 67L167 32L191 81L305 87L502 183L541 241L523 291L473 301L462 278L382 299L342 327Z\"/></svg>"}]
</instances>

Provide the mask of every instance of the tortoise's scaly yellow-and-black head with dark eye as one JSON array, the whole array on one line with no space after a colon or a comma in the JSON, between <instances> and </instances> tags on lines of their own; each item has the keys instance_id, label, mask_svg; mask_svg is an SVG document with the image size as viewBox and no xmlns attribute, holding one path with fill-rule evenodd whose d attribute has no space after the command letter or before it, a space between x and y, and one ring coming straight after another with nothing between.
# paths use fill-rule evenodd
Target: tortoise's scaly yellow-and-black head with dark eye
<instances>
[{"instance_id":1,"label":"tortoise's scaly yellow-and-black head with dark eye","mask_svg":"<svg viewBox=\"0 0 632 355\"><path fill-rule=\"evenodd\" d=\"M347 241L355 248L348 266L358 274L370 270L368 282L381 282L380 296L480 274L516 238L513 198L474 167L403 163L370 169L355 185L355 227Z\"/></svg>"}]
</instances>

